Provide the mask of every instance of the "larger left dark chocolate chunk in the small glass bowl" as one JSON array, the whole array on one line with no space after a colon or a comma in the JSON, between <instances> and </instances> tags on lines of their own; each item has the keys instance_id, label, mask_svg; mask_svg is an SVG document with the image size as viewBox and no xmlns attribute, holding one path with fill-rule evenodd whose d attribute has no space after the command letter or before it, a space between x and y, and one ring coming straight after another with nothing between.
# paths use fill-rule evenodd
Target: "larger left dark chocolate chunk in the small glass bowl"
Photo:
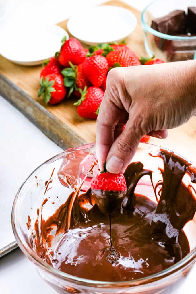
<instances>
[{"instance_id":1,"label":"larger left dark chocolate chunk in the small glass bowl","mask_svg":"<svg viewBox=\"0 0 196 294\"><path fill-rule=\"evenodd\" d=\"M183 10L174 10L169 14L152 20L151 27L168 35L184 34L186 15Z\"/></svg>"}]
</instances>

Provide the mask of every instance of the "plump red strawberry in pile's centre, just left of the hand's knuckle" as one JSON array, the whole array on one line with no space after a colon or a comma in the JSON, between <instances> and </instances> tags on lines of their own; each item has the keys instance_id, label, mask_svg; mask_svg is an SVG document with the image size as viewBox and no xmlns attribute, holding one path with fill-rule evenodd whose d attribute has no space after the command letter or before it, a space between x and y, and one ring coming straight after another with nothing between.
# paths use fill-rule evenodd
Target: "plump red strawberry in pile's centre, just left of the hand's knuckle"
<instances>
[{"instance_id":1,"label":"plump red strawberry in pile's centre, just left of the hand's knuckle","mask_svg":"<svg viewBox=\"0 0 196 294\"><path fill-rule=\"evenodd\" d=\"M107 59L102 55L87 57L82 65L83 73L93 86L101 86L108 72Z\"/></svg>"}]
</instances>

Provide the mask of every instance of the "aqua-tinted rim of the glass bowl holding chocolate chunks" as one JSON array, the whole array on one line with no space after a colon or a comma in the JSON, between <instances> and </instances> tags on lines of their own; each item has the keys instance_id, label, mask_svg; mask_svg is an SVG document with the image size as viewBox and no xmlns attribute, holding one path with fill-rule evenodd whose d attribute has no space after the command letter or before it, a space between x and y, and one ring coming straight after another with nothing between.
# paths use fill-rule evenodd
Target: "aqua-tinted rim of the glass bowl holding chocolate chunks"
<instances>
[{"instance_id":1,"label":"aqua-tinted rim of the glass bowl holding chocolate chunks","mask_svg":"<svg viewBox=\"0 0 196 294\"><path fill-rule=\"evenodd\" d=\"M152 1L142 11L142 14L141 14L141 22L142 22L142 26L143 26L144 31L148 31L149 33L151 33L154 36L157 36L157 37L162 38L162 39L170 40L170 41L192 41L192 40L196 40L196 36L194 36L194 37L189 37L189 36L187 36L187 37L181 37L181 36L167 35L167 34L160 33L159 31L156 31L155 29L153 29L150 26L148 26L148 24L145 22L145 19L144 19L145 12L147 11L147 9L151 5L153 5L155 2L158 2L158 1L159 0Z\"/></svg>"}]
</instances>

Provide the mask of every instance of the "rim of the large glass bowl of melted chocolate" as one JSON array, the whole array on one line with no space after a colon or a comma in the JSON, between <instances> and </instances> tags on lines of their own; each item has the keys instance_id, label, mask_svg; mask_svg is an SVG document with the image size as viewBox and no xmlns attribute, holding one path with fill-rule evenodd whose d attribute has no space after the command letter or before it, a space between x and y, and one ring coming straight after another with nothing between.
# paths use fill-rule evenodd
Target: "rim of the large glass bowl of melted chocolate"
<instances>
[{"instance_id":1,"label":"rim of the large glass bowl of melted chocolate","mask_svg":"<svg viewBox=\"0 0 196 294\"><path fill-rule=\"evenodd\" d=\"M175 263L174 265L170 266L169 268L162 270L161 272L158 272L156 274L136 279L136 280L131 280L131 281L116 281L116 282L108 282L108 281L98 281L98 280L89 280L89 279L84 279L84 278L79 278L77 276L73 276L64 272L61 272L60 270L57 270L53 268L51 265L47 264L43 259L41 259L29 246L29 244L26 242L23 233L21 232L20 228L16 229L16 205L17 201L20 197L21 190L25 186L26 183L28 183L28 180L33 176L33 174L38 171L41 167L44 167L46 164L51 163L55 160L58 160L62 158L65 154L69 154L73 151L81 150L81 149L88 149L95 147L95 143L88 143L84 144L78 147L74 148L68 148L65 151L62 151L61 153L58 153L57 155L53 156L52 158L48 159L47 161L43 162L40 166L38 166L27 178L26 180L22 183L20 186L18 192L16 193L16 197L14 199L14 203L12 206L12 212L11 212L11 223L12 223L12 229L14 232L14 236L16 238L16 241L19 245L19 248L21 251L26 255L35 265L38 265L41 267L43 270L46 270L49 274L55 275L58 278L62 278L67 281L71 282L76 282L77 284L80 285L88 285L89 287L102 287L102 288L111 288L113 287L139 287L140 285L151 283L156 280L163 279L167 277L168 275L171 275L173 273L176 273L176 271L182 269L184 266L186 266L188 263L190 263L192 260L196 258L196 247L190 251L184 258L182 258L179 262ZM150 144L150 143L144 143L140 142L140 145L150 145L150 146L155 146L158 148L162 148L168 151L171 151L170 149L155 145L155 144ZM175 152L175 154L179 155L178 153ZM183 156L179 155L181 158L184 158ZM184 158L185 159L185 158ZM190 161L188 161L191 163ZM191 163L192 164L192 163ZM192 164L193 165L193 164ZM194 165L193 165L194 166ZM195 166L194 166L195 167ZM22 240L23 239L23 240Z\"/></svg>"}]
</instances>

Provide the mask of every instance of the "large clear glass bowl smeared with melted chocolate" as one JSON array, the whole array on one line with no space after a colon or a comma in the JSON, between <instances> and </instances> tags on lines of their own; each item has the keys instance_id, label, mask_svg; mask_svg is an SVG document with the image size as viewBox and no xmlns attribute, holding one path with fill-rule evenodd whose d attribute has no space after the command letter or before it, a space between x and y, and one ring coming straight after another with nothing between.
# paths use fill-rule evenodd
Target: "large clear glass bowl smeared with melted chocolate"
<instances>
[{"instance_id":1,"label":"large clear glass bowl smeared with melted chocolate","mask_svg":"<svg viewBox=\"0 0 196 294\"><path fill-rule=\"evenodd\" d=\"M157 183L160 178L158 167L163 167L163 161L161 158L150 156L149 153L157 154L159 149L160 147L155 145L140 143L133 158L133 161L141 161L144 168L153 171L153 183ZM42 215L44 220L48 219L66 201L72 191L71 187L81 183L95 158L95 144L87 144L78 148L70 148L58 154L31 173L19 189L13 204L12 226L17 243L23 253L36 265L41 277L58 293L161 293L168 285L175 283L185 275L195 263L196 215L193 221L188 222L184 227L190 243L190 253L170 268L138 280L103 282L78 278L53 268L33 250L32 241L36 238L34 224L37 219L37 208L41 211L43 200L47 198L48 201L44 204L39 217ZM94 174L96 173L97 170L95 169ZM90 186L92 176L90 175L85 181L83 190ZM186 178L185 176L184 178ZM69 177L69 186L66 184L67 181L64 181L66 177ZM47 185L48 180L50 183ZM190 177L185 180L196 191L196 184L190 181ZM136 192L143 193L155 201L155 196L152 196L154 194L152 193L150 177L148 176L144 176L138 182ZM51 234L55 235L55 230ZM60 237L61 234L56 238L59 239Z\"/></svg>"}]
</instances>

